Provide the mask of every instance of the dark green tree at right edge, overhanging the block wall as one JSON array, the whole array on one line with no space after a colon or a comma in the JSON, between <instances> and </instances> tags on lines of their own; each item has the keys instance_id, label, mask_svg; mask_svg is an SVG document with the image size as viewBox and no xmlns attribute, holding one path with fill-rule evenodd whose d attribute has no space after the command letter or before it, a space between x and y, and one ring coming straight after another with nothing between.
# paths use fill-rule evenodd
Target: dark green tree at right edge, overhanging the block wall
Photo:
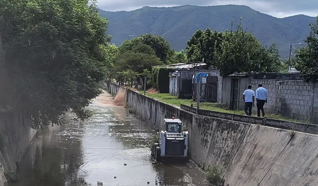
<instances>
[{"instance_id":1,"label":"dark green tree at right edge, overhanging the block wall","mask_svg":"<svg viewBox=\"0 0 318 186\"><path fill-rule=\"evenodd\" d=\"M294 66L301 71L304 79L309 82L318 80L318 17L315 24L311 24L311 32L306 38L306 47L296 54Z\"/></svg>"}]
</instances>

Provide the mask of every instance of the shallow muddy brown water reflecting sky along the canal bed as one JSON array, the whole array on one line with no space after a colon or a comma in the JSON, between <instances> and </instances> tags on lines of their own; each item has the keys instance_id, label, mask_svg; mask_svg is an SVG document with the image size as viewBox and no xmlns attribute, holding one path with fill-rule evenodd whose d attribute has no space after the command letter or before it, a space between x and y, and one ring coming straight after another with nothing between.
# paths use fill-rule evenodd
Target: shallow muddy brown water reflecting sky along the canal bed
<instances>
[{"instance_id":1,"label":"shallow muddy brown water reflecting sky along the canal bed","mask_svg":"<svg viewBox=\"0 0 318 186\"><path fill-rule=\"evenodd\" d=\"M12 186L186 186L209 185L193 162L152 164L146 143L151 127L104 93L91 105L86 122L71 120L42 131L21 164Z\"/></svg>"}]
</instances>

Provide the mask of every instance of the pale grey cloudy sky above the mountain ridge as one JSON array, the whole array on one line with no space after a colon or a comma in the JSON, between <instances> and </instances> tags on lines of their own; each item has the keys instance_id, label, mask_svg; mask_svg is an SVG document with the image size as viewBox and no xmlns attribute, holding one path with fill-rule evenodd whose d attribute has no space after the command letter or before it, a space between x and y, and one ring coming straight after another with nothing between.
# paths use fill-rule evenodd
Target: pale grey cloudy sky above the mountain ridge
<instances>
[{"instance_id":1,"label":"pale grey cloudy sky above the mountain ridge","mask_svg":"<svg viewBox=\"0 0 318 186\"><path fill-rule=\"evenodd\" d=\"M99 8L108 11L130 11L143 6L171 7L185 4L198 6L246 5L275 17L288 17L298 14L313 17L318 15L318 0L98 0Z\"/></svg>"}]
</instances>

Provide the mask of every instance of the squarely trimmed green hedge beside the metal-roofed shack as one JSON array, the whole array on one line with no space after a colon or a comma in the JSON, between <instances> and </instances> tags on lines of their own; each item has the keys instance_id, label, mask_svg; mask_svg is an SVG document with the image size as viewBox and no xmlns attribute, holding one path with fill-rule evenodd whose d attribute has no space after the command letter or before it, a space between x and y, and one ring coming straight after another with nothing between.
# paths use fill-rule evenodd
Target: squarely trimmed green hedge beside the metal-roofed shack
<instances>
[{"instance_id":1,"label":"squarely trimmed green hedge beside the metal-roofed shack","mask_svg":"<svg viewBox=\"0 0 318 186\"><path fill-rule=\"evenodd\" d=\"M174 71L174 69L165 67L153 67L151 70L152 86L160 93L169 93L169 73Z\"/></svg>"}]
</instances>

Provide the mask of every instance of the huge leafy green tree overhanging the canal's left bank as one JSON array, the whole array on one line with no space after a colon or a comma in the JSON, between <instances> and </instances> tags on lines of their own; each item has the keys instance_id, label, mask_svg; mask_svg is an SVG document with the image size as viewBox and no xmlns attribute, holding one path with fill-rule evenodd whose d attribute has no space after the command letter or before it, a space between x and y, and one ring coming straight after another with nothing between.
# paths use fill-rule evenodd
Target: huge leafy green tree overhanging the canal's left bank
<instances>
[{"instance_id":1,"label":"huge leafy green tree overhanging the canal's left bank","mask_svg":"<svg viewBox=\"0 0 318 186\"><path fill-rule=\"evenodd\" d=\"M95 1L1 0L1 16L4 68L33 127L60 124L68 110L88 118L106 71L101 46L110 40Z\"/></svg>"}]
</instances>

